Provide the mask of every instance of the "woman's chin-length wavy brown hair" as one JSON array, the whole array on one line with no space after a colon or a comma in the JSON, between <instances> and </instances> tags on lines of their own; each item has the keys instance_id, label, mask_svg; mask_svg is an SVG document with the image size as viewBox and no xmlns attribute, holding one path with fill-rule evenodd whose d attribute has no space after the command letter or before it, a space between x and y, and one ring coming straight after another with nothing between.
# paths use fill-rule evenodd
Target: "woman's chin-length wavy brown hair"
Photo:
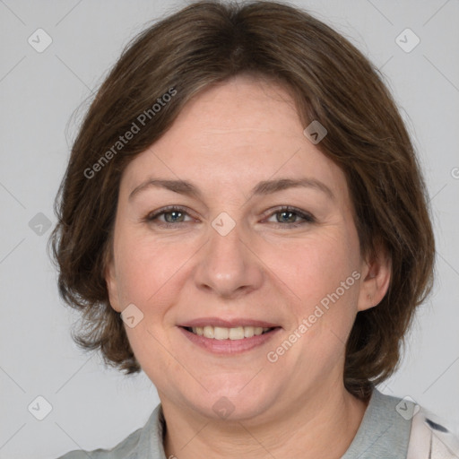
<instances>
[{"instance_id":1,"label":"woman's chin-length wavy brown hair","mask_svg":"<svg viewBox=\"0 0 459 459\"><path fill-rule=\"evenodd\" d=\"M120 178L188 100L237 74L280 82L305 127L312 120L325 126L328 134L317 147L345 173L362 254L374 255L379 245L391 257L385 298L358 313L346 345L344 385L366 398L394 372L414 310L431 289L434 238L426 188L377 69L347 39L288 4L191 4L144 30L108 74L74 142L50 238L60 294L82 311L74 340L99 349L106 363L126 374L140 371L104 279ZM152 110L168 92L173 99ZM145 113L148 122L118 145Z\"/></svg>"}]
</instances>

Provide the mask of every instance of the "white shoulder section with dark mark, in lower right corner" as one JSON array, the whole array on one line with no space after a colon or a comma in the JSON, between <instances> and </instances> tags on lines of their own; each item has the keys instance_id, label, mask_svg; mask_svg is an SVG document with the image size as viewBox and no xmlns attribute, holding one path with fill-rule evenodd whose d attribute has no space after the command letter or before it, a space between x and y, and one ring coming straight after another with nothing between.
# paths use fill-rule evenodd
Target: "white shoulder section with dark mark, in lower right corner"
<instances>
[{"instance_id":1,"label":"white shoulder section with dark mark, in lower right corner","mask_svg":"<svg viewBox=\"0 0 459 459\"><path fill-rule=\"evenodd\" d=\"M418 407L411 420L407 459L457 459L459 438L431 411Z\"/></svg>"}]
</instances>

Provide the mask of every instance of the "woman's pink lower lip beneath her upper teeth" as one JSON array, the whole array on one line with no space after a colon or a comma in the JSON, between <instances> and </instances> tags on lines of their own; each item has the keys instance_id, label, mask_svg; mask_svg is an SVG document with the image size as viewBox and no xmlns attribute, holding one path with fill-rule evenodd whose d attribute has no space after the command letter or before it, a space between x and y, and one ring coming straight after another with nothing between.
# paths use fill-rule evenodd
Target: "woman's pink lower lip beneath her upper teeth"
<instances>
[{"instance_id":1,"label":"woman's pink lower lip beneath her upper teeth","mask_svg":"<svg viewBox=\"0 0 459 459\"><path fill-rule=\"evenodd\" d=\"M215 354L238 354L250 351L270 341L273 336L281 330L281 328L278 327L274 328L271 332L254 335L251 338L243 338L241 340L215 340L213 338L206 338L205 336L188 332L181 326L178 328L189 341Z\"/></svg>"}]
</instances>

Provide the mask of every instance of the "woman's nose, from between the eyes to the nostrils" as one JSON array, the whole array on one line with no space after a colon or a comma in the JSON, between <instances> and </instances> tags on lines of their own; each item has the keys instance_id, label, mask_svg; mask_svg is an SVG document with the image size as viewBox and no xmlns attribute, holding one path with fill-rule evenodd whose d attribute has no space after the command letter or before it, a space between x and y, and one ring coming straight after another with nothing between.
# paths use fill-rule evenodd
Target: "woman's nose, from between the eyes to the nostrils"
<instances>
[{"instance_id":1,"label":"woman's nose, from between the eyes to the nostrils","mask_svg":"<svg viewBox=\"0 0 459 459\"><path fill-rule=\"evenodd\" d=\"M209 239L200 251L195 270L195 283L200 290L230 299L262 285L263 263L240 227L237 223L226 235L210 227Z\"/></svg>"}]
</instances>

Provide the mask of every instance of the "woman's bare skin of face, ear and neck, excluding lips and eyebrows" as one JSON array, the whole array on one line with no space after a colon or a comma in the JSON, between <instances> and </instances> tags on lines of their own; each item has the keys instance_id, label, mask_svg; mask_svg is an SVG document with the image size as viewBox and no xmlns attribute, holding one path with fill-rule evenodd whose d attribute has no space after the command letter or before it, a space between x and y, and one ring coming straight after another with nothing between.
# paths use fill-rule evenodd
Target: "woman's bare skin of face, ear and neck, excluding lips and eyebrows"
<instances>
[{"instance_id":1,"label":"woman's bare skin of face, ear and neck, excluding lips and eyebrows","mask_svg":"<svg viewBox=\"0 0 459 459\"><path fill-rule=\"evenodd\" d=\"M359 429L367 403L344 388L344 345L358 311L383 299L390 262L383 252L360 255L346 179L305 127L289 92L239 75L200 92L123 173L106 280L115 310L134 303L143 312L126 333L157 387L168 457L339 458ZM296 187L249 198L259 181L300 177L320 180L334 197ZM150 186L129 199L149 178L191 181L202 197ZM145 221L172 204L186 214ZM281 205L315 221L292 227ZM212 227L221 212L236 224L226 236ZM168 216L170 227L161 227ZM359 281L268 361L353 272ZM204 316L265 320L281 330L251 351L214 355L178 328ZM234 407L226 419L212 410L223 396Z\"/></svg>"}]
</instances>

